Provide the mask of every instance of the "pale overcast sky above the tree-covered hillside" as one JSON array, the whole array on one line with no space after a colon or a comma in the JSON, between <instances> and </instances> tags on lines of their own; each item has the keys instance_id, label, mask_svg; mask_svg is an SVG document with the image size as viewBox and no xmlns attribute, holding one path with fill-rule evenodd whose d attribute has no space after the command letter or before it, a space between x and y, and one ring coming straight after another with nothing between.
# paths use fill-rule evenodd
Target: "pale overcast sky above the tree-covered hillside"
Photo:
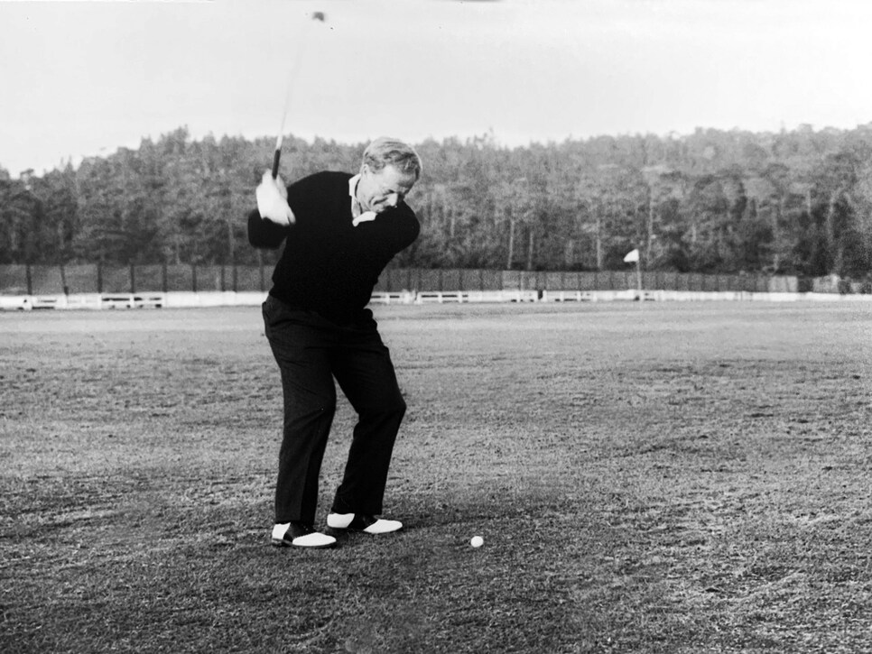
<instances>
[{"instance_id":1,"label":"pale overcast sky above the tree-covered hillside","mask_svg":"<svg viewBox=\"0 0 872 654\"><path fill-rule=\"evenodd\" d=\"M870 64L865 0L0 0L0 167L274 137L289 86L343 143L852 128Z\"/></svg>"}]
</instances>

